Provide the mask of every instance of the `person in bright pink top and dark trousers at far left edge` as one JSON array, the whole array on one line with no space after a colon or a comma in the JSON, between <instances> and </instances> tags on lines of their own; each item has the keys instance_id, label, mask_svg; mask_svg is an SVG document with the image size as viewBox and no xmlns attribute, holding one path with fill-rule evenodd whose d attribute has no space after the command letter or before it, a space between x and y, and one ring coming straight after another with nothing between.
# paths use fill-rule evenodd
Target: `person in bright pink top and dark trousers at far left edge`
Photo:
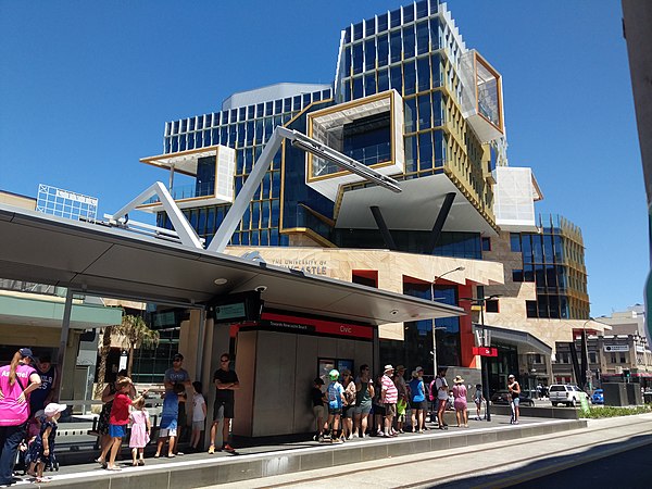
<instances>
[{"instance_id":1,"label":"person in bright pink top and dark trousers at far left edge","mask_svg":"<svg viewBox=\"0 0 652 489\"><path fill-rule=\"evenodd\" d=\"M0 367L0 485L13 482L16 451L29 417L29 393L40 386L33 362L32 350L21 348L11 364Z\"/></svg>"}]
</instances>

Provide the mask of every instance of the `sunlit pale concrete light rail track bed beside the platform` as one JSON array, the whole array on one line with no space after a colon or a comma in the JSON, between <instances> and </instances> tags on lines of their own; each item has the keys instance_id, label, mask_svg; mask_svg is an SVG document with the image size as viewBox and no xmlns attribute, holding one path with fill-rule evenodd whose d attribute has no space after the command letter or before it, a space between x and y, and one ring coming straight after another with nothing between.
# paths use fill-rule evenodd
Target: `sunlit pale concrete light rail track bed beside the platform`
<instances>
[{"instance_id":1,"label":"sunlit pale concrete light rail track bed beside the platform","mask_svg":"<svg viewBox=\"0 0 652 489\"><path fill-rule=\"evenodd\" d=\"M394 456L369 464L305 471L220 486L220 489L502 488L652 443L652 414L589 419L588 429ZM641 467L644 469L644 467Z\"/></svg>"}]
</instances>

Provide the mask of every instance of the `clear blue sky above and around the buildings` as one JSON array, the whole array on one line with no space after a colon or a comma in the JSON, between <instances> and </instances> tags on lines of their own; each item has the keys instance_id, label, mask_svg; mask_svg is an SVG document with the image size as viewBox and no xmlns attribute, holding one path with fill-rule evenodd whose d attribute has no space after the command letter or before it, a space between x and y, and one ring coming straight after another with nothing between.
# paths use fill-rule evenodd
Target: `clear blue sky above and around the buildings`
<instances>
[{"instance_id":1,"label":"clear blue sky above and around the buildings","mask_svg":"<svg viewBox=\"0 0 652 489\"><path fill-rule=\"evenodd\" d=\"M0 0L0 189L39 183L114 212L164 172L163 125L234 91L330 83L339 32L399 1ZM452 0L468 47L503 75L509 159L538 212L582 229L591 314L642 302L648 229L620 3Z\"/></svg>"}]
</instances>

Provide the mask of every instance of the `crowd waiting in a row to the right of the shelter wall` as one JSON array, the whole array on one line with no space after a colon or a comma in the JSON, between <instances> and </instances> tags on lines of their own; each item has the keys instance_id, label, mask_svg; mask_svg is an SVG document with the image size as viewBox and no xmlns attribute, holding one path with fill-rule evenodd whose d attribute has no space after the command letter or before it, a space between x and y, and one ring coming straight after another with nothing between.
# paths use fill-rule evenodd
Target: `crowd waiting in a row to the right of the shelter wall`
<instances>
[{"instance_id":1,"label":"crowd waiting in a row to the right of the shelter wall","mask_svg":"<svg viewBox=\"0 0 652 489\"><path fill-rule=\"evenodd\" d=\"M447 368L439 368L428 385L424 369L417 366L409 381L405 367L385 365L383 374L375 379L369 366L360 366L353 378L349 369L331 369L329 384L317 377L313 381L311 399L315 418L315 441L342 443L367 436L396 437L402 432L424 432L428 416L438 429L448 429L444 419L447 409L455 411L457 427L468 427L467 388L464 379L456 376L449 388ZM480 418L485 402L481 386L473 393L476 419ZM410 412L410 418L406 413Z\"/></svg>"}]
</instances>

